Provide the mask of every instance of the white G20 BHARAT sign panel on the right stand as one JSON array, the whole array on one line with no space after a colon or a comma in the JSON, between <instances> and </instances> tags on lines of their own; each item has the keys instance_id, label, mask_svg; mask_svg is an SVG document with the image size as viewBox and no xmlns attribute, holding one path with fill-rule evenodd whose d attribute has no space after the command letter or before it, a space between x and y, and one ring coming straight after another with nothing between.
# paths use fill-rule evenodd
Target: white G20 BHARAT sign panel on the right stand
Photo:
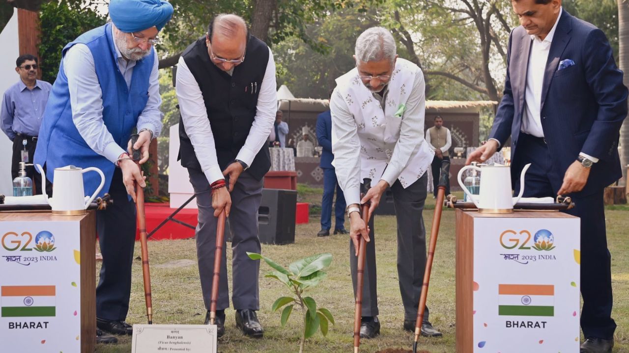
<instances>
[{"instance_id":1,"label":"white G20 BHARAT sign panel on the right stand","mask_svg":"<svg viewBox=\"0 0 629 353\"><path fill-rule=\"evenodd\" d=\"M474 219L474 352L579 350L579 222Z\"/></svg>"}]
</instances>

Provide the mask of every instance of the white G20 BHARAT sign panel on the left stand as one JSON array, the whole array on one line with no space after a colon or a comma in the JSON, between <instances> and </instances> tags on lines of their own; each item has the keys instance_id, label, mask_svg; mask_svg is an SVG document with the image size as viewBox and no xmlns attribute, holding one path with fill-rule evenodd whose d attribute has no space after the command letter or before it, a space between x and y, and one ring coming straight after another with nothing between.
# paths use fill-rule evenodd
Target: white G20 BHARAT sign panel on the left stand
<instances>
[{"instance_id":1,"label":"white G20 BHARAT sign panel on the left stand","mask_svg":"<svg viewBox=\"0 0 629 353\"><path fill-rule=\"evenodd\" d=\"M81 350L79 222L0 222L0 342L6 352Z\"/></svg>"}]
</instances>

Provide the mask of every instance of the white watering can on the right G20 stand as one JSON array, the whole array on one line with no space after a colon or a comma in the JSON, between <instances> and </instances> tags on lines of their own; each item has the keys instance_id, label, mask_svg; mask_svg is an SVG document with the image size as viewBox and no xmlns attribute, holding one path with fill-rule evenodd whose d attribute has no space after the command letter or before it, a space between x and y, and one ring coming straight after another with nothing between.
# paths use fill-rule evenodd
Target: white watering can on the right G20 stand
<instances>
[{"instance_id":1,"label":"white watering can on the right G20 stand","mask_svg":"<svg viewBox=\"0 0 629 353\"><path fill-rule=\"evenodd\" d=\"M520 200L524 193L524 175L531 163L522 169L520 174L520 194L512 197L511 189L511 167L506 165L484 165L480 168L473 165L464 166L459 171L459 185L467 194L479 212L490 214L502 214L513 212L513 206ZM464 183L461 176L465 170L476 170L481 173L481 186L479 195L472 194Z\"/></svg>"}]
</instances>

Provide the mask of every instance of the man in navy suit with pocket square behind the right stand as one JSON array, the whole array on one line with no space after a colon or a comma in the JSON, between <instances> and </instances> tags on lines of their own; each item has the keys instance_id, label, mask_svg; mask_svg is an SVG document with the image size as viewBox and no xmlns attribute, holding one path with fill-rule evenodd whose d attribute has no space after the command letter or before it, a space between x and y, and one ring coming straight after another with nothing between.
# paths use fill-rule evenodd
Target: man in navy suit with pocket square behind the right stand
<instances>
[{"instance_id":1,"label":"man in navy suit with pocket square behind the right stand","mask_svg":"<svg viewBox=\"0 0 629 353\"><path fill-rule=\"evenodd\" d=\"M511 32L504 95L489 135L470 154L485 161L511 137L511 173L526 163L525 196L570 195L581 217L581 353L611 352L611 255L603 189L621 177L620 126L627 114L623 73L610 43L561 0L515 0L520 18Z\"/></svg>"}]
</instances>

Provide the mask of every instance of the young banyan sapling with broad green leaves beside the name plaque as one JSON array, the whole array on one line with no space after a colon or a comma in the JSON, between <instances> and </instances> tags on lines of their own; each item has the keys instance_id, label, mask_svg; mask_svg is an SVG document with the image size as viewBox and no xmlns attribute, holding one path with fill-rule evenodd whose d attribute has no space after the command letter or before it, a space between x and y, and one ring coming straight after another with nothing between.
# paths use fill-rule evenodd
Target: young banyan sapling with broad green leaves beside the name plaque
<instances>
[{"instance_id":1,"label":"young banyan sapling with broad green leaves beside the name plaque","mask_svg":"<svg viewBox=\"0 0 629 353\"><path fill-rule=\"evenodd\" d=\"M299 344L300 353L303 352L304 340L313 337L319 329L324 336L328 334L329 323L334 325L334 318L330 310L317 308L315 299L311 296L303 296L303 293L306 289L317 286L323 278L326 278L327 273L325 273L323 269L330 266L332 254L318 254L299 259L289 264L288 269L260 254L247 253L247 255L252 260L262 259L271 268L275 269L276 271L272 271L265 277L275 278L281 281L291 291L291 294L294 295L277 298L271 307L273 312L277 312L277 310L284 307L281 317L282 327L286 326L286 322L291 316L294 305L301 307L304 329Z\"/></svg>"}]
</instances>

